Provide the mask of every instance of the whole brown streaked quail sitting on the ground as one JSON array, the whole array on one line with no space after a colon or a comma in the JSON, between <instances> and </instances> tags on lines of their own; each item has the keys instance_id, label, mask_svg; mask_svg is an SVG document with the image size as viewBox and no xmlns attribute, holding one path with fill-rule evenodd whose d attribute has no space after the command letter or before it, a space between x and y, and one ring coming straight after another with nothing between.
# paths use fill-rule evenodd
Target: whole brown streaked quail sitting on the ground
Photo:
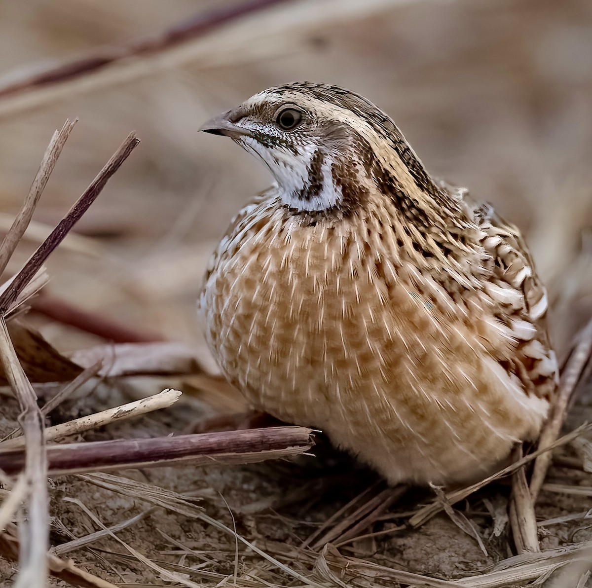
<instances>
[{"instance_id":1,"label":"whole brown streaked quail sitting on the ground","mask_svg":"<svg viewBox=\"0 0 592 588\"><path fill-rule=\"evenodd\" d=\"M232 221L200 298L250 403L391 483L461 483L535 439L556 386L545 289L516 227L436 182L336 86L271 88L203 130L276 183Z\"/></svg>"}]
</instances>

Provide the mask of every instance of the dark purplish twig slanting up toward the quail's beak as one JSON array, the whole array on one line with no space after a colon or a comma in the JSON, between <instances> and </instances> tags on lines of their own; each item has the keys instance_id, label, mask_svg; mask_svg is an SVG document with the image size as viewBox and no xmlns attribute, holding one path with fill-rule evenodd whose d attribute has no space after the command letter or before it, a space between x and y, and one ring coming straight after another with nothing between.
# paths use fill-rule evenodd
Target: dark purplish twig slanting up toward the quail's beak
<instances>
[{"instance_id":1,"label":"dark purplish twig slanting up toward the quail's beak","mask_svg":"<svg viewBox=\"0 0 592 588\"><path fill-rule=\"evenodd\" d=\"M105 164L96 178L91 182L82 196L76 201L66 216L59 222L47 239L41 243L37 251L29 258L27 263L18 272L12 281L11 287L0 294L0 315L4 316L11 304L16 300L21 291L30 282L31 278L37 273L44 264L50 253L62 242L63 238L70 229L81 219L82 215L88 210L89 206L101 194L102 189L107 184L111 176L120 168L121 164L128 158L130 153L137 147L140 140L135 133L130 133L127 139L121 144L120 148L111 159Z\"/></svg>"}]
</instances>

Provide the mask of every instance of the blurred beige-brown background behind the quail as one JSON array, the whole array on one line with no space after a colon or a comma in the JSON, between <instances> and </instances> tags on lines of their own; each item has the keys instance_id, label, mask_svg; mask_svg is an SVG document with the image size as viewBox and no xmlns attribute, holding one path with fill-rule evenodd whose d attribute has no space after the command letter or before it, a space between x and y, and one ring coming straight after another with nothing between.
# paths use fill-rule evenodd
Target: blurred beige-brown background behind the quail
<instances>
[{"instance_id":1,"label":"blurred beige-brown background behind the quail","mask_svg":"<svg viewBox=\"0 0 592 588\"><path fill-rule=\"evenodd\" d=\"M86 240L52 255L47 290L199 342L194 307L207 258L271 179L233 142L198 128L269 86L330 82L391 114L429 171L526 232L564 350L592 313L592 3L284 0L250 2L242 16L233 7L244 0L0 1L0 232L54 129L80 118L34 216L38 234L12 269L136 130L140 147L76 227ZM183 43L165 35L224 9L225 23ZM143 39L152 49L137 49ZM31 83L105 56L115 59ZM64 351L95 341L38 323Z\"/></svg>"}]
</instances>

